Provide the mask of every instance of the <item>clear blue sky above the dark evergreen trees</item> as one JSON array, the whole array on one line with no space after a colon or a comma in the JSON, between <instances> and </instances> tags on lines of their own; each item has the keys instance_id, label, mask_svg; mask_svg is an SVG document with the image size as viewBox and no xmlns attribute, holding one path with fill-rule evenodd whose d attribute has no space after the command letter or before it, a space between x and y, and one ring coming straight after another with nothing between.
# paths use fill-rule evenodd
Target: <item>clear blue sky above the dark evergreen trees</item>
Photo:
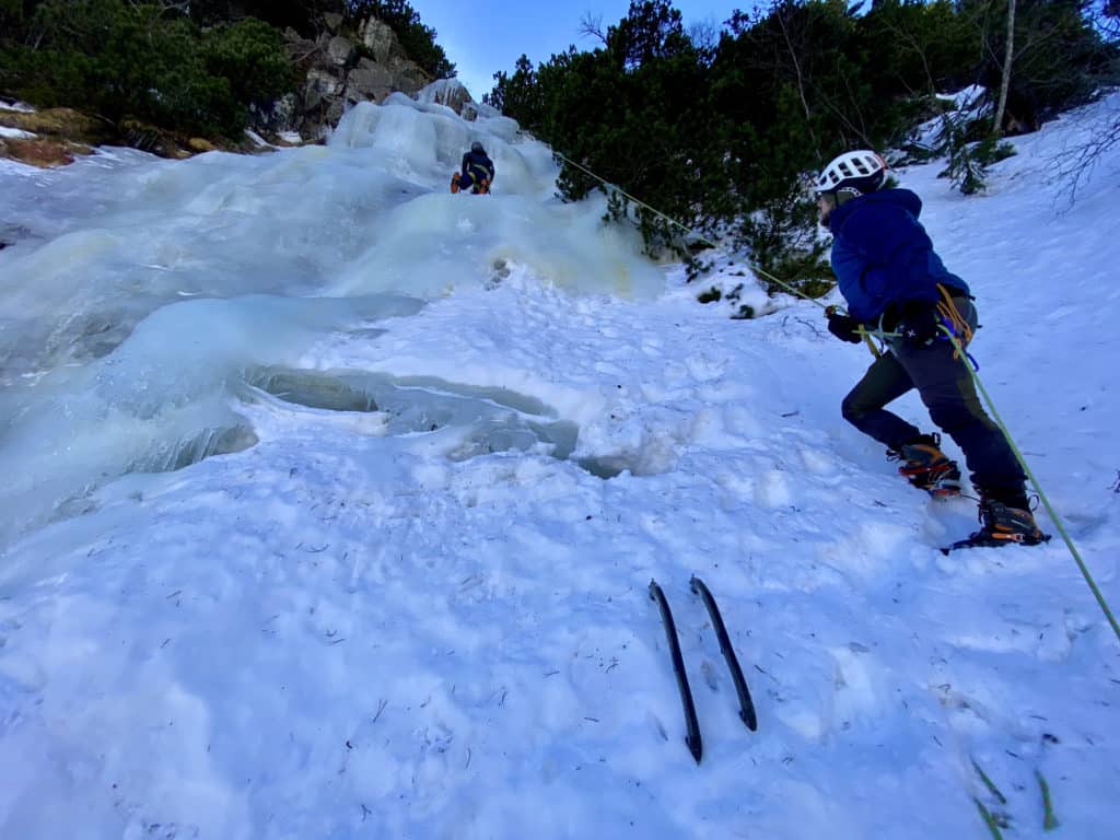
<instances>
[{"instance_id":1,"label":"clear blue sky above the dark evergreen trees","mask_svg":"<svg viewBox=\"0 0 1120 840\"><path fill-rule=\"evenodd\" d=\"M494 86L497 71L510 72L524 53L534 65L547 62L569 44L594 49L597 41L582 36L580 20L590 13L601 17L606 29L626 17L629 0L411 0L426 26L437 31L436 40L455 63L459 81L470 95L482 100ZM720 24L736 9L749 9L752 0L689 0L674 6L689 27L706 20Z\"/></svg>"}]
</instances>

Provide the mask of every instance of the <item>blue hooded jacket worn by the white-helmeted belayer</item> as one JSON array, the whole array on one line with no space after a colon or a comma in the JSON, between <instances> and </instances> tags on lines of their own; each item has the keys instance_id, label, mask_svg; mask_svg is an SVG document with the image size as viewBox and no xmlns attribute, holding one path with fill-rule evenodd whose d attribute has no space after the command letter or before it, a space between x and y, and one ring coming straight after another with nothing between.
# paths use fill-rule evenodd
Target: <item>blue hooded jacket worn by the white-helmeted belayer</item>
<instances>
[{"instance_id":1,"label":"blue hooded jacket worn by the white-helmeted belayer","mask_svg":"<svg viewBox=\"0 0 1120 840\"><path fill-rule=\"evenodd\" d=\"M917 221L922 199L908 189L884 189L832 211L832 270L848 314L876 325L909 300L941 300L937 283L969 293L949 271Z\"/></svg>"}]
</instances>

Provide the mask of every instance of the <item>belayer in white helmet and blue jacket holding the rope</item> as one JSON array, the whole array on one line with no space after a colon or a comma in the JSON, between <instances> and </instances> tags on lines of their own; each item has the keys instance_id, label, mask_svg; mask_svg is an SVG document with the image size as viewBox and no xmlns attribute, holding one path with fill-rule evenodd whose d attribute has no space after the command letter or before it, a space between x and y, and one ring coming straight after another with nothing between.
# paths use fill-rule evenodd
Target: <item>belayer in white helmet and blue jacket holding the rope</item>
<instances>
[{"instance_id":1,"label":"belayer in white helmet and blue jacket holding the rope","mask_svg":"<svg viewBox=\"0 0 1120 840\"><path fill-rule=\"evenodd\" d=\"M960 495L961 473L941 451L941 436L922 433L884 407L917 389L930 417L964 452L980 493L974 544L1035 545L1026 476L999 427L977 398L972 376L945 330L963 347L977 327L968 284L950 272L917 221L922 199L881 189L887 175L874 151L830 161L816 181L821 224L832 231L832 270L848 315L830 307L829 332L852 344L860 327L888 334L878 356L843 399L843 417L887 446L898 472L934 496Z\"/></svg>"}]
</instances>

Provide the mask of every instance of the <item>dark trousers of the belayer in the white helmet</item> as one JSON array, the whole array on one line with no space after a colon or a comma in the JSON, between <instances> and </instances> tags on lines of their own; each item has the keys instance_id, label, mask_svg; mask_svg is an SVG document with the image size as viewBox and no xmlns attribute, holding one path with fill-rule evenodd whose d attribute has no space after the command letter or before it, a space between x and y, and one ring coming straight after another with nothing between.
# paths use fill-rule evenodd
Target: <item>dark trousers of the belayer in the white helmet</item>
<instances>
[{"instance_id":1,"label":"dark trousers of the belayer in the white helmet","mask_svg":"<svg viewBox=\"0 0 1120 840\"><path fill-rule=\"evenodd\" d=\"M955 298L964 319L976 328L972 302ZM1026 505L1026 476L1004 432L984 412L977 396L967 360L953 358L953 345L939 339L914 346L896 339L871 363L864 379L844 398L844 420L890 449L921 435L917 427L884 407L912 388L930 410L930 418L956 441L972 474L972 484L987 497L1012 507Z\"/></svg>"}]
</instances>

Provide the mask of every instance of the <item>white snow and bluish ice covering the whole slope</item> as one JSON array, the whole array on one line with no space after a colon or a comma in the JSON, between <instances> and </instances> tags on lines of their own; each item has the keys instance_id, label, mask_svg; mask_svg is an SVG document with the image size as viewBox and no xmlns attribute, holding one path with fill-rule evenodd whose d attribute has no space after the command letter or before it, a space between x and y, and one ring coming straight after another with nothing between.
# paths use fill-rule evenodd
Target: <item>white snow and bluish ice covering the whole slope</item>
<instances>
[{"instance_id":1,"label":"white snow and bluish ice covering the whole slope","mask_svg":"<svg viewBox=\"0 0 1120 840\"><path fill-rule=\"evenodd\" d=\"M428 100L326 147L0 161L0 837L990 837L978 802L1113 837L1120 640L1056 524L943 557L976 505L841 419L870 356L816 304L701 306L760 298L741 256L688 283ZM1118 106L986 195L895 172L1114 605L1120 155L1072 207L1058 176ZM475 139L494 194L451 195Z\"/></svg>"}]
</instances>

